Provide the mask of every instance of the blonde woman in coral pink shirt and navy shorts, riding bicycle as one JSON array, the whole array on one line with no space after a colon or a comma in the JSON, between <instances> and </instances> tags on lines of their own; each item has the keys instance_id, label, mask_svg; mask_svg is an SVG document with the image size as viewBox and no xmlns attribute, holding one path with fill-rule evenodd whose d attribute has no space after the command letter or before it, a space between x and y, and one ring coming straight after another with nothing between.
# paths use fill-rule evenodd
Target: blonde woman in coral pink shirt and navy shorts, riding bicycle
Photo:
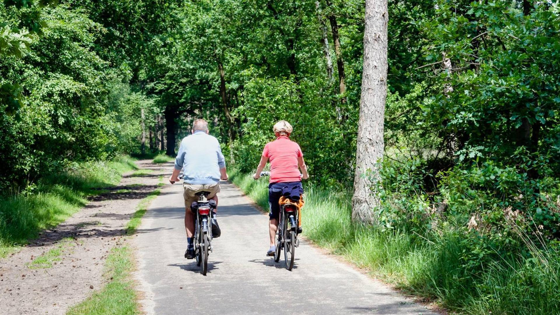
<instances>
[{"instance_id":1,"label":"blonde woman in coral pink shirt and navy shorts, riding bicycle","mask_svg":"<svg viewBox=\"0 0 560 315\"><path fill-rule=\"evenodd\" d=\"M282 191L288 191L292 196L301 196L304 192L301 179L309 178L304 154L301 152L300 146L290 140L290 134L293 131L291 124L287 121L279 121L274 124L273 131L276 140L268 142L264 146L259 166L253 175L254 179L259 179L260 172L270 159L270 184L268 185L270 248L267 256L274 256L276 250L274 237L276 237L278 229L280 212L278 201L282 196ZM299 169L301 169L301 174ZM301 228L298 228L297 233L301 233Z\"/></svg>"}]
</instances>

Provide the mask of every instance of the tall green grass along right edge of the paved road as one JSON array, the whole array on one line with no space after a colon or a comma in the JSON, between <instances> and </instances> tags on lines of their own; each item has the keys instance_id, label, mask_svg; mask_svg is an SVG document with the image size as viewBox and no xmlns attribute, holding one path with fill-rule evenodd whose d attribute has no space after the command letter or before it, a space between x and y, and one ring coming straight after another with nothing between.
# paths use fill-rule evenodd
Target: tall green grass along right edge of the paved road
<instances>
[{"instance_id":1,"label":"tall green grass along right edge of the paved road","mask_svg":"<svg viewBox=\"0 0 560 315\"><path fill-rule=\"evenodd\" d=\"M242 191L268 208L266 180L230 173ZM494 255L489 262L470 266L461 258L471 250L465 242L469 236L459 229L442 228L426 237L353 224L349 192L307 186L305 201L302 227L308 239L407 293L463 314L560 314L557 249L520 248L533 256Z\"/></svg>"}]
</instances>

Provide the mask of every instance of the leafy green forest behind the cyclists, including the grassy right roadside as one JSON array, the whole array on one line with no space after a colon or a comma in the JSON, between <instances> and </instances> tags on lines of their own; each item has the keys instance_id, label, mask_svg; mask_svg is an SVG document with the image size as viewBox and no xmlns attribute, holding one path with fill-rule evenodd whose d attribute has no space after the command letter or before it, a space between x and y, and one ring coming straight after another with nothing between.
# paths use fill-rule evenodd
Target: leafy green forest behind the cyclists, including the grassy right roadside
<instances>
[{"instance_id":1,"label":"leafy green forest behind the cyclists, including the grassy right roadside","mask_svg":"<svg viewBox=\"0 0 560 315\"><path fill-rule=\"evenodd\" d=\"M3 0L0 244L16 242L2 233L15 199L124 154L174 156L197 118L250 194L285 119L311 174L306 237L454 312L557 314L560 4L385 3L364 223L351 219L364 2Z\"/></svg>"}]
</instances>

